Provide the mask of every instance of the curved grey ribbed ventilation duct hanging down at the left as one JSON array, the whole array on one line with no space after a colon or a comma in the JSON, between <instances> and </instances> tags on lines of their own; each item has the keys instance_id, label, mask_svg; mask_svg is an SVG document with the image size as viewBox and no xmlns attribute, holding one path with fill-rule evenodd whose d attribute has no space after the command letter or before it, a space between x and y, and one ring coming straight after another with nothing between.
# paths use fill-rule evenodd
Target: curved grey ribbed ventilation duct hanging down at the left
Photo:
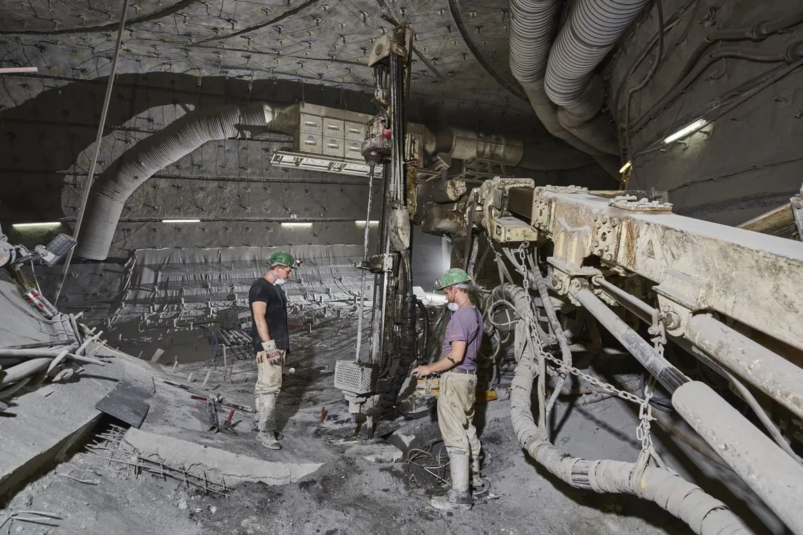
<instances>
[{"instance_id":1,"label":"curved grey ribbed ventilation duct hanging down at the left","mask_svg":"<svg viewBox=\"0 0 803 535\"><path fill-rule=\"evenodd\" d=\"M125 202L157 171L207 141L235 137L242 129L291 133L295 126L291 108L275 108L264 103L212 110L199 108L134 145L92 185L75 254L88 259L106 259Z\"/></svg>"}]
</instances>

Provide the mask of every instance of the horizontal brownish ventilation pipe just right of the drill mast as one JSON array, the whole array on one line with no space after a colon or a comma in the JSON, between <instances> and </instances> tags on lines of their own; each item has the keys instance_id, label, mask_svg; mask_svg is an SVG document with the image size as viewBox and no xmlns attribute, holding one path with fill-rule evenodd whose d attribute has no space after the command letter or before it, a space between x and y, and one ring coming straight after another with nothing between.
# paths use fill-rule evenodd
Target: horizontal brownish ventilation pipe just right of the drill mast
<instances>
[{"instance_id":1,"label":"horizontal brownish ventilation pipe just right of the drill mast","mask_svg":"<svg viewBox=\"0 0 803 535\"><path fill-rule=\"evenodd\" d=\"M520 139L446 128L424 145L426 153L447 153L459 160L484 158L534 171L575 169L593 163L588 154L559 141L525 145Z\"/></svg>"}]
</instances>

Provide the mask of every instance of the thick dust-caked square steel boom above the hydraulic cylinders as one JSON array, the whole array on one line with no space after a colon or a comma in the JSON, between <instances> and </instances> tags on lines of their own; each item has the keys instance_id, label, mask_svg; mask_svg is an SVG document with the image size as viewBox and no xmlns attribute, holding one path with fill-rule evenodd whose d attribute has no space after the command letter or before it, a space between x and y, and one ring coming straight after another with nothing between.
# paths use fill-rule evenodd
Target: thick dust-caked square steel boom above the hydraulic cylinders
<instances>
[{"instance_id":1,"label":"thick dust-caked square steel boom above the hydraulic cylinders","mask_svg":"<svg viewBox=\"0 0 803 535\"><path fill-rule=\"evenodd\" d=\"M512 188L508 210L529 198L531 225L555 243L556 263L581 272L594 255L654 281L688 312L670 333L682 334L691 312L714 310L803 350L803 243L559 188ZM569 251L572 258L560 257Z\"/></svg>"}]
</instances>

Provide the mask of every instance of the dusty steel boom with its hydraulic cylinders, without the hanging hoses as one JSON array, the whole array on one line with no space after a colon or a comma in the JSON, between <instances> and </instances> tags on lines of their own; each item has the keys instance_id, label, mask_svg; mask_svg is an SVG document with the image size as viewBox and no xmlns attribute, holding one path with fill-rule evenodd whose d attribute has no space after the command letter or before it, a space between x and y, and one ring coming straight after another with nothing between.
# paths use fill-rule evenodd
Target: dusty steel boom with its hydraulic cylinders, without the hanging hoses
<instances>
[{"instance_id":1,"label":"dusty steel boom with its hydraulic cylinders, without the hanging hoses","mask_svg":"<svg viewBox=\"0 0 803 535\"><path fill-rule=\"evenodd\" d=\"M469 195L476 205L468 202L468 226L481 227L508 259L516 250L543 253L552 292L608 329L671 394L679 415L803 533L801 459L622 320L634 313L748 397L741 381L803 421L803 243L672 214L662 198L628 192L496 178ZM526 272L524 280L526 287Z\"/></svg>"}]
</instances>

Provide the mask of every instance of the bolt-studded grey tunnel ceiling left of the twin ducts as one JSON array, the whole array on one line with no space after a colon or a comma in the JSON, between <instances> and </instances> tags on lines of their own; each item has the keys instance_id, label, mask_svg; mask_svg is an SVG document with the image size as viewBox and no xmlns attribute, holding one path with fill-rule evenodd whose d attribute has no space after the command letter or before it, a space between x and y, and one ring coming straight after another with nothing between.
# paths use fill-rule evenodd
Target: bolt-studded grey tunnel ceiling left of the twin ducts
<instances>
[{"instance_id":1,"label":"bolt-studded grey tunnel ceiling left of the twin ducts","mask_svg":"<svg viewBox=\"0 0 803 535\"><path fill-rule=\"evenodd\" d=\"M122 2L2 2L2 66L39 67L47 80L108 74ZM504 0L135 0L118 72L174 72L241 80L298 80L365 91L374 39L400 20L415 31L411 92L466 100L532 118L507 68ZM14 102L31 80L3 80ZM27 87L10 87L23 84ZM6 107L14 102L3 103Z\"/></svg>"}]
</instances>

